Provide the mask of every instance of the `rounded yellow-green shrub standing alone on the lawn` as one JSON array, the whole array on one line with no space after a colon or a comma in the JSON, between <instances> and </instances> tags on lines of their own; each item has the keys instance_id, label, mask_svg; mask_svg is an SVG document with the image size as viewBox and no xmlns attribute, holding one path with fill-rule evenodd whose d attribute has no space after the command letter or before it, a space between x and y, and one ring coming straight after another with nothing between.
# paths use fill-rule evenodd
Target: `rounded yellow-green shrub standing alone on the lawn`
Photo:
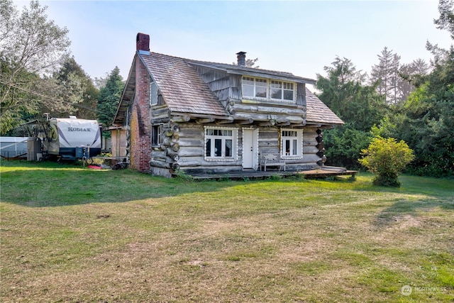
<instances>
[{"instance_id":1,"label":"rounded yellow-green shrub standing alone on the lawn","mask_svg":"<svg viewBox=\"0 0 454 303\"><path fill-rule=\"evenodd\" d=\"M414 159L413 150L404 141L381 136L373 138L361 153L363 158L358 161L375 175L373 184L389 187L400 187L397 177Z\"/></svg>"}]
</instances>

